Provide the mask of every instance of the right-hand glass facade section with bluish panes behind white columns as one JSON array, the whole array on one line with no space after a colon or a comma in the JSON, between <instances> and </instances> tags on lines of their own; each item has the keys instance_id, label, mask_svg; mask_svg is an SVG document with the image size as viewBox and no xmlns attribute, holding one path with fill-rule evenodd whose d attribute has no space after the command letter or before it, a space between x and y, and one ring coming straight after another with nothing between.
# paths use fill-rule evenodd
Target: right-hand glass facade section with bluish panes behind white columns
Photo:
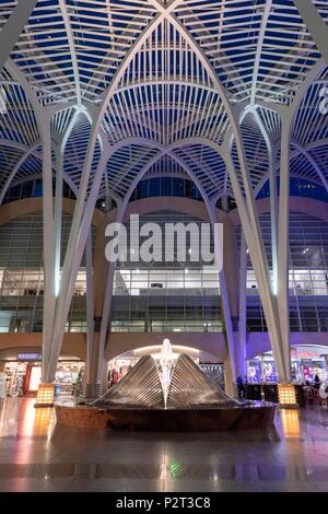
<instances>
[{"instance_id":1,"label":"right-hand glass facade section with bluish panes behind white columns","mask_svg":"<svg viewBox=\"0 0 328 514\"><path fill-rule=\"evenodd\" d=\"M261 214L263 243L272 269L270 215ZM267 325L250 258L247 265L247 327L266 331ZM290 215L291 331L328 330L328 223L292 212Z\"/></svg>"}]
</instances>

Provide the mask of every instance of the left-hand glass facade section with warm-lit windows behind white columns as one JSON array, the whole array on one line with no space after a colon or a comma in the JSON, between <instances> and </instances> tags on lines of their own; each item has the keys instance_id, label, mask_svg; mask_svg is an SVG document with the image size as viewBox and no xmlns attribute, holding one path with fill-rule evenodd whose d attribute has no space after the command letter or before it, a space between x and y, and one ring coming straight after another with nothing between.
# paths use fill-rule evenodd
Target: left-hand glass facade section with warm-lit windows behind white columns
<instances>
[{"instance_id":1,"label":"left-hand glass facade section with warm-lit windows behind white columns","mask_svg":"<svg viewBox=\"0 0 328 514\"><path fill-rule=\"evenodd\" d=\"M71 217L62 218L65 255ZM0 226L0 331L43 329L43 219L39 213L24 215ZM61 262L62 265L62 262ZM67 330L86 331L85 261L75 283Z\"/></svg>"}]
</instances>

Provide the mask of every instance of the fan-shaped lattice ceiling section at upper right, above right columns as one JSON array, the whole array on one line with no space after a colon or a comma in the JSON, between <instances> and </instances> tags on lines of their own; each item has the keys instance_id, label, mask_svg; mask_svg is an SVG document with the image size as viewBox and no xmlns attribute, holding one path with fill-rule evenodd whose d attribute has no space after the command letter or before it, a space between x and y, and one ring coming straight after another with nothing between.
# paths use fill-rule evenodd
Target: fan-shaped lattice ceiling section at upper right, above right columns
<instances>
[{"instance_id":1,"label":"fan-shaped lattice ceiling section at upper right, above right columns","mask_svg":"<svg viewBox=\"0 0 328 514\"><path fill-rule=\"evenodd\" d=\"M325 2L315 3L328 17ZM190 0L177 14L233 102L291 102L318 58L292 0Z\"/></svg>"}]
</instances>

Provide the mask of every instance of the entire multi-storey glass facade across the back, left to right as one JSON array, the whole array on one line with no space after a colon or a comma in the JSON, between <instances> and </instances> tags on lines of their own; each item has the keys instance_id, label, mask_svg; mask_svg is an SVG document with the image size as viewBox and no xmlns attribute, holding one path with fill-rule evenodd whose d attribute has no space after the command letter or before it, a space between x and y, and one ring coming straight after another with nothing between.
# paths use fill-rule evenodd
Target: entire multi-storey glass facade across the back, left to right
<instances>
[{"instance_id":1,"label":"entire multi-storey glass facade across the back, left to right","mask_svg":"<svg viewBox=\"0 0 328 514\"><path fill-rule=\"evenodd\" d=\"M191 217L169 211L140 218L140 224L149 221L156 221L162 227L167 222L200 223ZM262 214L260 223L271 267L270 217ZM71 217L65 215L62 255L70 226ZM127 230L129 233L129 226ZM0 331L42 331L42 215L24 215L0 226ZM291 213L290 264L291 331L327 331L328 223L306 214ZM86 331L85 295L83 258L66 326L68 331ZM113 331L221 331L218 273L200 261L138 264L138 267L133 262L119 264L115 273L112 320ZM247 329L267 330L249 259Z\"/></svg>"}]
</instances>

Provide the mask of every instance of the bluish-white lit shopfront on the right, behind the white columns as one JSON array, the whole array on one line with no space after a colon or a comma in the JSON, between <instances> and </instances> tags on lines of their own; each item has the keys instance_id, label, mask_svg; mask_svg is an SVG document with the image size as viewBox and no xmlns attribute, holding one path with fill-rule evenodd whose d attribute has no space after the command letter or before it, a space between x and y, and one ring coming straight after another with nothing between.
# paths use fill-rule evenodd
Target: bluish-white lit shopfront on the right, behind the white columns
<instances>
[{"instance_id":1,"label":"bluish-white lit shopfront on the right, behind the white columns","mask_svg":"<svg viewBox=\"0 0 328 514\"><path fill-rule=\"evenodd\" d=\"M300 384L319 379L328 370L328 347L300 346L291 350L292 378ZM277 366L271 351L247 361L247 381L249 384L277 383Z\"/></svg>"}]
</instances>

